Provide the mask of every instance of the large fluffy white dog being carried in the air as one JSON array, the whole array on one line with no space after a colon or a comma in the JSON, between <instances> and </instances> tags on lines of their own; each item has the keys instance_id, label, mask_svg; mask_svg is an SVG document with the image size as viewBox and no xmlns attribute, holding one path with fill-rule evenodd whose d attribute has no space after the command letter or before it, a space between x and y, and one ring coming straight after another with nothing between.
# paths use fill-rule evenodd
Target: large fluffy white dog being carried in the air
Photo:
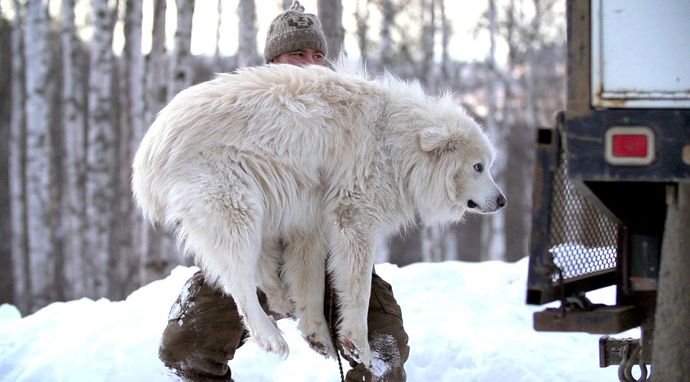
<instances>
[{"instance_id":1,"label":"large fluffy white dog being carried in the air","mask_svg":"<svg viewBox=\"0 0 690 382\"><path fill-rule=\"evenodd\" d=\"M235 299L253 339L288 346L257 299L291 313L335 354L323 315L327 269L339 341L371 364L367 308L376 238L411 224L490 213L506 199L487 136L451 97L392 77L268 65L180 92L133 164L144 214L175 227L206 277Z\"/></svg>"}]
</instances>

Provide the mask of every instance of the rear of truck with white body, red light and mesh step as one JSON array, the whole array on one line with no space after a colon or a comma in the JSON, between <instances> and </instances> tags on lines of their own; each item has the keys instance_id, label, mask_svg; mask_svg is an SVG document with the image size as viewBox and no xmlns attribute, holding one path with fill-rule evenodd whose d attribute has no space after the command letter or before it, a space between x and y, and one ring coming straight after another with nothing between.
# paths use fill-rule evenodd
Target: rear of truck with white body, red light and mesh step
<instances>
[{"instance_id":1,"label":"rear of truck with white body, red light and mesh step","mask_svg":"<svg viewBox=\"0 0 690 382\"><path fill-rule=\"evenodd\" d=\"M536 134L526 301L552 306L533 326L604 335L620 381L687 381L690 1L567 0L566 18L565 110ZM615 304L588 299L611 286Z\"/></svg>"}]
</instances>

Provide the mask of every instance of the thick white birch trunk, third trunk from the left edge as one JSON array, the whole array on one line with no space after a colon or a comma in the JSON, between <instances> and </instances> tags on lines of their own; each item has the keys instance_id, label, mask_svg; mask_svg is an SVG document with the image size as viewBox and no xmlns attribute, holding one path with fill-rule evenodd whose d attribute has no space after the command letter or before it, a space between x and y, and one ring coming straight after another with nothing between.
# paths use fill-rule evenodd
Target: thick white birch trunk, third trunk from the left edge
<instances>
[{"instance_id":1,"label":"thick white birch trunk, third trunk from the left edge","mask_svg":"<svg viewBox=\"0 0 690 382\"><path fill-rule=\"evenodd\" d=\"M54 137L48 3L29 0L26 8L26 209L29 233L31 300L34 307L55 300L59 290L54 261L58 255L59 211L53 167Z\"/></svg>"}]
</instances>

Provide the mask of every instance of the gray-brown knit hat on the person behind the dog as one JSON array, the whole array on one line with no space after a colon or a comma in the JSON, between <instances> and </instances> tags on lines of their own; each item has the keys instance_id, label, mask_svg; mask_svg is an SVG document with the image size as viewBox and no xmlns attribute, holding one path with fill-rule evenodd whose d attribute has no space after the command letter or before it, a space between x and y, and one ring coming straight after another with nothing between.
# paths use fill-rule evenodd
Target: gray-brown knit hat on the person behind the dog
<instances>
[{"instance_id":1,"label":"gray-brown knit hat on the person behind the dog","mask_svg":"<svg viewBox=\"0 0 690 382\"><path fill-rule=\"evenodd\" d=\"M269 63L283 53L308 48L328 54L321 22L315 15L304 13L304 7L295 0L288 10L271 22L266 35L264 59Z\"/></svg>"}]
</instances>

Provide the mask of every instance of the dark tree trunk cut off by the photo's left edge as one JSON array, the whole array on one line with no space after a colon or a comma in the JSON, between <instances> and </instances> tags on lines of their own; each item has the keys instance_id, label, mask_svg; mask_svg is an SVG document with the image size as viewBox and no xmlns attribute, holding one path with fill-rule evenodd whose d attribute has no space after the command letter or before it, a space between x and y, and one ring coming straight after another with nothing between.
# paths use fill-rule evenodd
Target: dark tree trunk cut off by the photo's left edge
<instances>
[{"instance_id":1,"label":"dark tree trunk cut off by the photo's left edge","mask_svg":"<svg viewBox=\"0 0 690 382\"><path fill-rule=\"evenodd\" d=\"M14 302L12 285L12 219L10 218L10 100L12 99L12 26L0 4L0 301Z\"/></svg>"}]
</instances>

